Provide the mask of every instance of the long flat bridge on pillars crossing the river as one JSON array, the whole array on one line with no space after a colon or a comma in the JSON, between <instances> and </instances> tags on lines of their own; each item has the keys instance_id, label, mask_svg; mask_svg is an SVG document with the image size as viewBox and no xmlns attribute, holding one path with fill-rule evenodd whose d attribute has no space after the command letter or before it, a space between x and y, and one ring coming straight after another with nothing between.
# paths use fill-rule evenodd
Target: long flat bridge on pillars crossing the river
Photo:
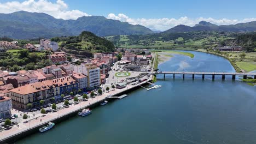
<instances>
[{"instance_id":1,"label":"long flat bridge on pillars crossing the river","mask_svg":"<svg viewBox=\"0 0 256 144\"><path fill-rule=\"evenodd\" d=\"M183 75L183 79L185 79L185 75L192 75L192 78L195 78L195 75L202 75L202 79L205 79L205 75L212 75L212 79L215 79L216 75L222 75L222 79L225 79L226 75L232 76L232 79L235 80L236 76L243 76L243 79L247 79L248 76L252 76L254 79L256 79L256 73L222 73L222 72L191 72L191 71L159 71L159 72L153 72L149 74L158 74L158 75L173 75L173 79L175 78L175 75Z\"/></svg>"}]
</instances>

